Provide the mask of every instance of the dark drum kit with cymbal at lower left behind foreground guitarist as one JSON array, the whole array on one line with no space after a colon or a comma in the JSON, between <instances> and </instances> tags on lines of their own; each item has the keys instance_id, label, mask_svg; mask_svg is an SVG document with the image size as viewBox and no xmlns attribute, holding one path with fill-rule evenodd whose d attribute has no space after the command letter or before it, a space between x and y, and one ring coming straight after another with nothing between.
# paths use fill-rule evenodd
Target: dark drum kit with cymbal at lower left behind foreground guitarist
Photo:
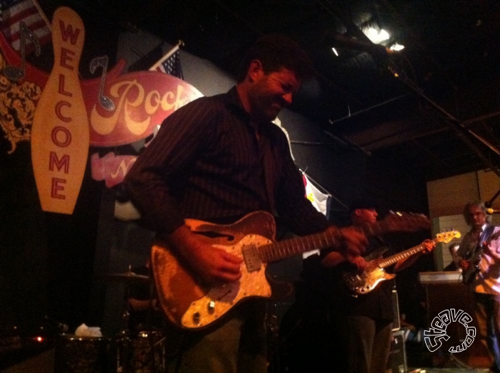
<instances>
[{"instance_id":1,"label":"dark drum kit with cymbal at lower left behind foreground guitarist","mask_svg":"<svg viewBox=\"0 0 500 373\"><path fill-rule=\"evenodd\" d=\"M102 275L107 281L125 285L149 284L150 276L126 273ZM125 323L128 311L123 313ZM61 334L56 340L55 373L164 373L167 349L165 333L145 325L144 330L129 327L115 337L79 337Z\"/></svg>"}]
</instances>

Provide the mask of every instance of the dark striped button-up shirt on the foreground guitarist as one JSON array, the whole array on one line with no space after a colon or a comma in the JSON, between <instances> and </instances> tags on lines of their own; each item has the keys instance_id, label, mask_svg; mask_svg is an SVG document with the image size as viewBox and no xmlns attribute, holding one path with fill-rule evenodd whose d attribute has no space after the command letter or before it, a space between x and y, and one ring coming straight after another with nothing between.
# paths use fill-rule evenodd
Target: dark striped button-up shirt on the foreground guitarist
<instances>
[{"instance_id":1,"label":"dark striped button-up shirt on the foreground guitarist","mask_svg":"<svg viewBox=\"0 0 500 373\"><path fill-rule=\"evenodd\" d=\"M172 113L125 177L142 223L170 233L187 218L229 223L264 210L299 235L323 231L283 131L272 122L259 131L236 88Z\"/></svg>"}]
</instances>

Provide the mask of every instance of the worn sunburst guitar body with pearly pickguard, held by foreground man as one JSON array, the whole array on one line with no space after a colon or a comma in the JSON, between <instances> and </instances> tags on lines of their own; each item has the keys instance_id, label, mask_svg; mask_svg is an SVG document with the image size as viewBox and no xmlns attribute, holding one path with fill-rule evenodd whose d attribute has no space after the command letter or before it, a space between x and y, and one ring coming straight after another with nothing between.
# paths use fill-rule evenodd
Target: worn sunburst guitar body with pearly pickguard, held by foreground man
<instances>
[{"instance_id":1,"label":"worn sunburst guitar body with pearly pickguard, held by foreground man","mask_svg":"<svg viewBox=\"0 0 500 373\"><path fill-rule=\"evenodd\" d=\"M275 235L273 216L265 213L247 215L227 226L189 219L186 224L197 233L216 231L217 237L201 237L240 258L245 251L246 261L251 261L249 251L271 243ZM246 266L241 266L240 280L212 288L204 286L184 263L179 263L165 243L157 242L152 246L152 263L162 309L172 322L184 328L206 327L245 298L271 297L266 263L260 261L245 262Z\"/></svg>"}]
</instances>

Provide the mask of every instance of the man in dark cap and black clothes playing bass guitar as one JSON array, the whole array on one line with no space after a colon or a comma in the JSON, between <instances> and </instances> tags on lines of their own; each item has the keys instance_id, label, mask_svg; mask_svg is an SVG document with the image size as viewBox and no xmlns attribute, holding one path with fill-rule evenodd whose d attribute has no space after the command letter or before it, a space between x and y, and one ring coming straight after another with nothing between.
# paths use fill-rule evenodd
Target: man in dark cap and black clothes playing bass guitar
<instances>
[{"instance_id":1,"label":"man in dark cap and black clothes playing bass guitar","mask_svg":"<svg viewBox=\"0 0 500 373\"><path fill-rule=\"evenodd\" d=\"M349 211L353 226L366 226L377 221L377 204L370 199L353 201ZM423 251L400 259L392 268L386 268L387 272L407 268L422 253L429 253L434 248L430 240L422 245L425 246ZM383 257L395 254L382 236L370 237L365 254L360 258L365 262L363 267L367 268L370 261L382 257L382 253ZM328 340L333 340L331 345L338 346L336 350L321 352L323 356L319 358L322 361L319 366L333 366L335 372L385 373L392 340L392 322L395 317L399 317L394 315L392 304L394 280L382 280L368 293L355 295L346 286L344 276L360 272L342 253L322 251L319 258L311 258L310 263L307 261L304 262L305 277L315 278L313 288L321 289L316 290L315 296L325 316L318 317L318 320L325 320L328 324L320 327L323 333L328 329ZM315 274L311 275L312 272ZM318 272L321 273L319 277ZM331 372L331 369L323 368L317 372L323 371Z\"/></svg>"}]
</instances>

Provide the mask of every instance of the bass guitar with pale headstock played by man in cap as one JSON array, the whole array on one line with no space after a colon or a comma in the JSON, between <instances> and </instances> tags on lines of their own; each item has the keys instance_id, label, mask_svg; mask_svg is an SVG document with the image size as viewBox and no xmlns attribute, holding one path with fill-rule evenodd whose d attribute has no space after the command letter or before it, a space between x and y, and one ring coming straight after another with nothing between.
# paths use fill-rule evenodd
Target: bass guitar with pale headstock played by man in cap
<instances>
[{"instance_id":1,"label":"bass guitar with pale headstock played by man in cap","mask_svg":"<svg viewBox=\"0 0 500 373\"><path fill-rule=\"evenodd\" d=\"M432 241L434 243L449 243L453 238L460 238L460 236L461 234L459 231L449 231L438 233L436 238L432 239ZM413 256L423 250L425 250L425 244L420 243L420 245L408 248L401 253L397 253L387 258L382 258L382 254L387 251L387 248L375 250L373 253L365 256L365 260L368 261L368 266L365 270L343 274L341 278L343 285L345 285L345 288L347 288L353 296L370 293L380 281L392 280L392 278L395 278L395 274L387 273L384 268L392 266L401 259Z\"/></svg>"}]
</instances>

